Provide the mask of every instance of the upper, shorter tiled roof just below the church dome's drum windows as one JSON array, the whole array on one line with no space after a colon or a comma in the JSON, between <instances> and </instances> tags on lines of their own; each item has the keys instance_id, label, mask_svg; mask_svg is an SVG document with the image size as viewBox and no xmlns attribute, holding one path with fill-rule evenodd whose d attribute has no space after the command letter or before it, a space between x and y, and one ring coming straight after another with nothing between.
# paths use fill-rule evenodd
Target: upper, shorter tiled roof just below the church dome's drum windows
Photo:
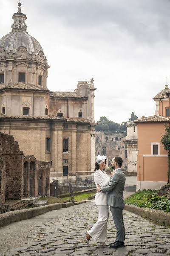
<instances>
[{"instance_id":1,"label":"upper, shorter tiled roof just below the church dome's drum windows","mask_svg":"<svg viewBox=\"0 0 170 256\"><path fill-rule=\"evenodd\" d=\"M28 84L25 82L19 82L16 84L8 84L7 86L0 86L0 89L8 88L8 89L24 89L24 90L41 90L41 91L49 91L47 88L43 88L41 86Z\"/></svg>"}]
</instances>

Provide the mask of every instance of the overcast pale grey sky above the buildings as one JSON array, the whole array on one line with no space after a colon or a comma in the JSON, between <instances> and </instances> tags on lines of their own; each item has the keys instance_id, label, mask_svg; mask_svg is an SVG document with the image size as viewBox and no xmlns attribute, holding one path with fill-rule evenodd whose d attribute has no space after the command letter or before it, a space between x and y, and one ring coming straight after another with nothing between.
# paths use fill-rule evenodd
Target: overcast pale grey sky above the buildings
<instances>
[{"instance_id":1,"label":"overcast pale grey sky above the buildings","mask_svg":"<svg viewBox=\"0 0 170 256\"><path fill-rule=\"evenodd\" d=\"M0 0L0 38L18 0ZM170 82L170 0L21 0L28 33L51 66L48 89L74 91L94 78L95 121L155 112Z\"/></svg>"}]
</instances>

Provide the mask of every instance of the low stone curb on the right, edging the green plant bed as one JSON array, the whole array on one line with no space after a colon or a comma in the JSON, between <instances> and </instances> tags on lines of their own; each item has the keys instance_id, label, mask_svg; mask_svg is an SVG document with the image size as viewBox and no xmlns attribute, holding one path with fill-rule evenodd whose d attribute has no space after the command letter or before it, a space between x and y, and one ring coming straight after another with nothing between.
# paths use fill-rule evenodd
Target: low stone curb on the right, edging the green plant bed
<instances>
[{"instance_id":1,"label":"low stone curb on the right, edging the green plant bed","mask_svg":"<svg viewBox=\"0 0 170 256\"><path fill-rule=\"evenodd\" d=\"M126 211L133 212L143 218L148 218L152 221L165 226L170 226L170 212L155 210L150 208L140 208L134 205L125 204Z\"/></svg>"}]
</instances>

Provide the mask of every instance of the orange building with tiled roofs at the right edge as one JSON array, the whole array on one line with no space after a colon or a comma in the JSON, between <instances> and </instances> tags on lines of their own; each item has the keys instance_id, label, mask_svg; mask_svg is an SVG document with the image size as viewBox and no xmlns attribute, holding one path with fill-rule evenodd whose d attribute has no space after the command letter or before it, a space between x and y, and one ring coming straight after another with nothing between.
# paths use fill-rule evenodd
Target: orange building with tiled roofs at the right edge
<instances>
[{"instance_id":1,"label":"orange building with tiled roofs at the right edge","mask_svg":"<svg viewBox=\"0 0 170 256\"><path fill-rule=\"evenodd\" d=\"M134 121L138 125L137 186L139 189L160 189L170 182L168 177L167 151L161 143L164 125L170 122L170 89L165 89L154 98L154 116Z\"/></svg>"}]
</instances>

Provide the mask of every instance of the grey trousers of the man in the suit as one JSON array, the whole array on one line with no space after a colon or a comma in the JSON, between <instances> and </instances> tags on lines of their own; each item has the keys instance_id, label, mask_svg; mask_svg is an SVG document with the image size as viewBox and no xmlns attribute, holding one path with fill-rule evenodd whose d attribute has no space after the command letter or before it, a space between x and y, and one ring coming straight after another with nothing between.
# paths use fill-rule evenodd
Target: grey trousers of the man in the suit
<instances>
[{"instance_id":1,"label":"grey trousers of the man in the suit","mask_svg":"<svg viewBox=\"0 0 170 256\"><path fill-rule=\"evenodd\" d=\"M113 216L113 221L116 226L116 241L125 241L125 226L123 222L123 208L112 207L111 213Z\"/></svg>"}]
</instances>

